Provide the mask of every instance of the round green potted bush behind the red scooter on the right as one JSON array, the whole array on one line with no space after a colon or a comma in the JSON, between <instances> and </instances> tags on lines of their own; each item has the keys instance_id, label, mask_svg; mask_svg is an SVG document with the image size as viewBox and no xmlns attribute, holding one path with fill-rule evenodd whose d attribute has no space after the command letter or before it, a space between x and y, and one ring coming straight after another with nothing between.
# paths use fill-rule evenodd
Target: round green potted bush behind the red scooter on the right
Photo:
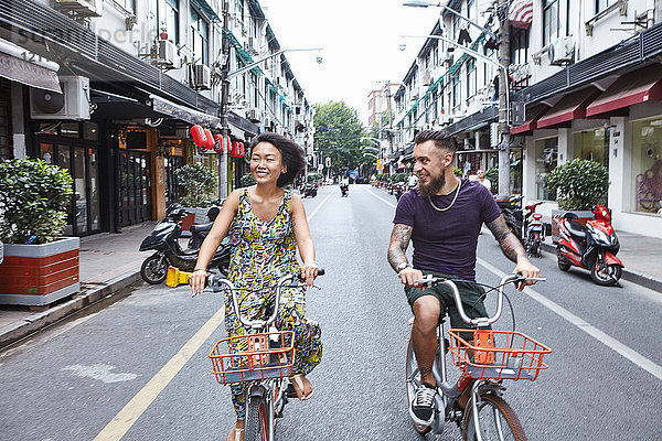
<instances>
[{"instance_id":1,"label":"round green potted bush behind the red scooter on the right","mask_svg":"<svg viewBox=\"0 0 662 441\"><path fill-rule=\"evenodd\" d=\"M556 243L557 220L566 213L575 213L581 224L592 218L590 208L605 202L609 172L596 161L576 158L552 170L547 186L556 192L558 203L558 209L552 211L552 239Z\"/></svg>"}]
</instances>

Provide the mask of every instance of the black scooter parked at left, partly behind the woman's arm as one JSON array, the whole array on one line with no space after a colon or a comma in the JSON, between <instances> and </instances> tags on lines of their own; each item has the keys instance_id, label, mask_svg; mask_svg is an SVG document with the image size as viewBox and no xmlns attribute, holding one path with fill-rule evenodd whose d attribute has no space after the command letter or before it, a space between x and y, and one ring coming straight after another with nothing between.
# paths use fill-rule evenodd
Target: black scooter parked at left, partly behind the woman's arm
<instances>
[{"instance_id":1,"label":"black scooter parked at left, partly behind the woman's arm","mask_svg":"<svg viewBox=\"0 0 662 441\"><path fill-rule=\"evenodd\" d=\"M157 251L145 259L140 267L142 280L151 284L162 283L166 280L169 266L192 272L197 260L199 249L182 249L178 241L182 235L181 222L188 212L181 205L173 204L166 214L166 218L158 223L140 244L141 251L150 249ZM211 271L218 271L225 276L228 266L229 239L226 237L216 250L209 268Z\"/></svg>"}]
</instances>

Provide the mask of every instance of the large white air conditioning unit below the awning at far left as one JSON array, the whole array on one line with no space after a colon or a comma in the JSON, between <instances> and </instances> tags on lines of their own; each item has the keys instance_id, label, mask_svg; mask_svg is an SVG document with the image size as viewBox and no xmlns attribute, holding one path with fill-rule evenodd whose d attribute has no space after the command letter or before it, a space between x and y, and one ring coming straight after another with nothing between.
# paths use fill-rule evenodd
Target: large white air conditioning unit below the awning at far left
<instances>
[{"instance_id":1,"label":"large white air conditioning unit below the awning at far left","mask_svg":"<svg viewBox=\"0 0 662 441\"><path fill-rule=\"evenodd\" d=\"M89 119L89 78L61 76L62 94L30 89L32 119Z\"/></svg>"}]
</instances>

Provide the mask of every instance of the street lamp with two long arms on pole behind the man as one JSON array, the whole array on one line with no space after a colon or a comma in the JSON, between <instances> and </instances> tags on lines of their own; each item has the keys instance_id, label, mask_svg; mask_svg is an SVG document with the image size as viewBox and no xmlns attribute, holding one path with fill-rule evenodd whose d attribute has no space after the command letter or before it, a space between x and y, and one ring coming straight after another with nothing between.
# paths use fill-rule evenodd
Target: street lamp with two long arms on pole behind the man
<instances>
[{"instance_id":1,"label":"street lamp with two long arms on pole behind the man","mask_svg":"<svg viewBox=\"0 0 662 441\"><path fill-rule=\"evenodd\" d=\"M508 8L509 0L498 0L498 9ZM430 3L427 0L406 0L403 2L403 6L413 7L413 8L427 8L430 6L442 8L444 11L449 12L469 24L478 28L481 32L488 34L494 42L499 42L499 60L496 63L489 57L484 57L484 55L479 54L478 52L465 47L452 40L448 40L441 37L439 35L429 35L428 37L445 40L449 44L452 44L456 47L460 47L465 52L470 55L477 56L481 60L490 60L490 63L495 63L499 66L500 78L499 78L499 123L501 129L501 144L499 146L499 192L505 192L506 195L510 193L510 87L509 87L509 77L508 77L508 66L510 64L510 46L509 46L509 29L508 29L508 14L504 21L501 20L496 14L496 20L499 21L499 33L501 36L501 41L496 39L496 35L487 28L481 26L480 24L471 21L467 17L460 14L451 8L448 8L441 3ZM401 44L402 47L402 44Z\"/></svg>"}]
</instances>

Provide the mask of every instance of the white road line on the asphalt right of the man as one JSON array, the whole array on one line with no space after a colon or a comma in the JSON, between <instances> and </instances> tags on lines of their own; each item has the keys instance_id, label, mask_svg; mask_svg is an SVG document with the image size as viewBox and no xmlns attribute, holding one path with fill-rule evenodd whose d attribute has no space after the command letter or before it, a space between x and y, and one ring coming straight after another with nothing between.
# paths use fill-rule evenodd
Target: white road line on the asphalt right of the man
<instances>
[{"instance_id":1,"label":"white road line on the asphalt right of the man","mask_svg":"<svg viewBox=\"0 0 662 441\"><path fill-rule=\"evenodd\" d=\"M496 275L499 277L505 276L505 272L503 272L499 268L488 263L483 259L479 258L478 262L482 267L484 267L485 269L488 269L489 271L493 272L494 275ZM597 327L592 326L590 323L588 323L585 320L573 314L570 311L566 310L562 305L553 302L552 300L549 300L546 297L542 295L541 293L536 292L533 288L526 287L523 292L526 295L528 295L530 298L532 298L533 300L535 300L536 302L541 303L543 306L549 309L552 312L555 312L563 319L567 320L568 322L570 322L572 324L577 326L579 330L586 332L588 335L596 338L598 342L600 342L604 345L606 345L607 347L616 351L623 357L628 358L630 362L634 363L637 366L641 367L643 370L647 370L648 373L650 373L658 379L662 380L662 366L655 364L654 362L652 362L651 359L639 354L638 352L630 348L629 346L626 346L618 340L611 337L610 335L608 335L608 334L604 333L602 331L598 330Z\"/></svg>"}]
</instances>

